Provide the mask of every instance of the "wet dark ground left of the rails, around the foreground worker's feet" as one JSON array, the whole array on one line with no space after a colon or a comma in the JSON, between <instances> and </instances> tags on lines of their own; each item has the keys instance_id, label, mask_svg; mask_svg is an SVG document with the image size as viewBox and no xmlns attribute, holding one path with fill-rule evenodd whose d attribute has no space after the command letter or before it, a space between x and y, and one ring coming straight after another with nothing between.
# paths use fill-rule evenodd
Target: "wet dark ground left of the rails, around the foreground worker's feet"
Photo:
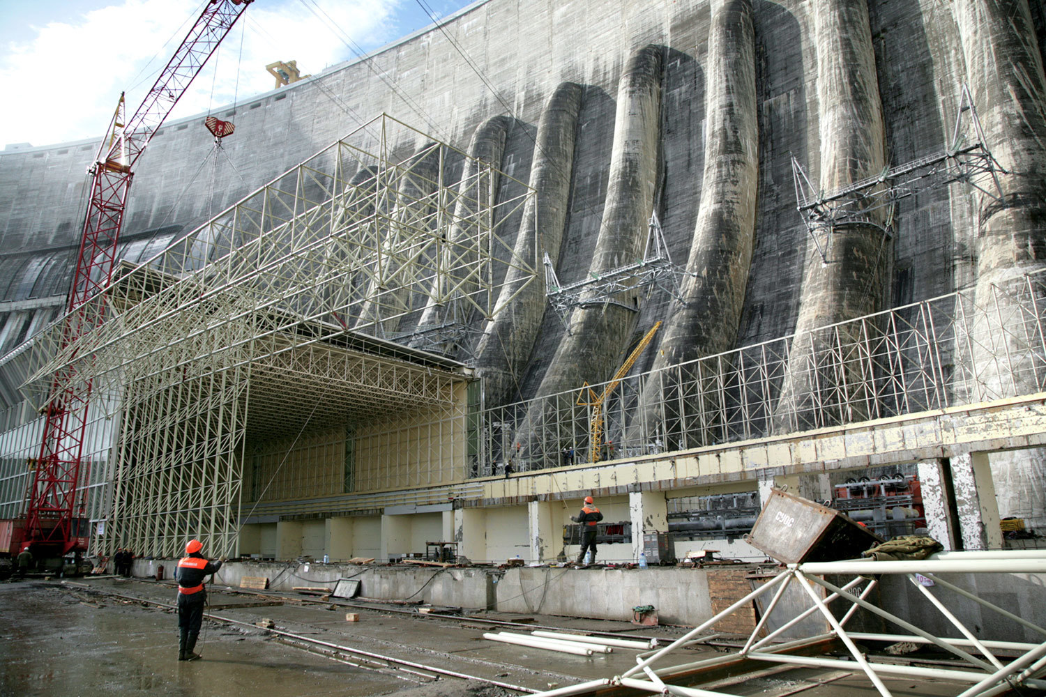
<instances>
[{"instance_id":1,"label":"wet dark ground left of the rails, around the foreground worker's feet","mask_svg":"<svg viewBox=\"0 0 1046 697\"><path fill-rule=\"evenodd\" d=\"M232 697L265 686L271 697L371 695L408 687L207 623L203 660L177 660L178 619L54 584L0 584L0 694ZM127 586L124 586L127 588ZM123 591L121 588L120 591ZM164 600L170 602L169 588ZM90 605L84 604L82 599Z\"/></svg>"}]
</instances>

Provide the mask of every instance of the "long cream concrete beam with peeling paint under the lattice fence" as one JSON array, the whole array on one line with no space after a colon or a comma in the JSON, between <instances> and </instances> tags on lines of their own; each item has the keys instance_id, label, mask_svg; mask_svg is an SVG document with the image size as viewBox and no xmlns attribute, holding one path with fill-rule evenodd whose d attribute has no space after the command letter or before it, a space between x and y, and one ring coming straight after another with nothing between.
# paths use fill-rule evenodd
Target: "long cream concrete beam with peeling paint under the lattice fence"
<instances>
[{"instance_id":1,"label":"long cream concrete beam with peeling paint under the lattice fence","mask_svg":"<svg viewBox=\"0 0 1046 697\"><path fill-rule=\"evenodd\" d=\"M897 465L1046 444L1046 395L484 482L491 506ZM751 488L755 488L752 486Z\"/></svg>"}]
</instances>

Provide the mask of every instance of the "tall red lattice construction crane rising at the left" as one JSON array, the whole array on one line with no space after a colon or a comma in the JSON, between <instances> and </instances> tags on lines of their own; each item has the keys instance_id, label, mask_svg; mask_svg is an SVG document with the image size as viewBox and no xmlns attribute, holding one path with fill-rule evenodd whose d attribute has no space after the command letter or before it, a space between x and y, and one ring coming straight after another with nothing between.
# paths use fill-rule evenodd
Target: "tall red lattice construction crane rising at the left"
<instances>
[{"instance_id":1,"label":"tall red lattice construction crane rising at the left","mask_svg":"<svg viewBox=\"0 0 1046 697\"><path fill-rule=\"evenodd\" d=\"M123 118L123 95L120 95L108 135L88 170L93 181L63 320L63 348L105 320L105 304L88 301L109 285L135 163L252 1L210 0L138 111L128 120ZM62 556L87 549L88 531L82 529L87 488L81 482L86 483L89 478L82 458L90 398L91 380L78 379L73 368L55 373L44 411L40 458L26 495L23 539L35 554Z\"/></svg>"}]
</instances>

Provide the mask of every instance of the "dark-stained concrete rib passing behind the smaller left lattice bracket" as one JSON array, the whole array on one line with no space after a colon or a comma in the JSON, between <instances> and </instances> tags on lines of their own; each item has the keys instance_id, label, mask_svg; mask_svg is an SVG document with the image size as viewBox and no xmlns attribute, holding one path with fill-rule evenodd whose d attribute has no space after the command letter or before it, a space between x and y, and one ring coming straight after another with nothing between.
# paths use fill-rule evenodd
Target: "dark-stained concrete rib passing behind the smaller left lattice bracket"
<instances>
[{"instance_id":1,"label":"dark-stained concrete rib passing behind the smaller left lattice bracket","mask_svg":"<svg viewBox=\"0 0 1046 697\"><path fill-rule=\"evenodd\" d=\"M590 274L602 275L638 260L647 237L647 220L654 208L661 112L661 65L663 49L646 46L629 60L617 91L614 143L610 162L607 204L596 238ZM585 380L606 380L622 361L635 329L639 295L618 295L612 302L590 298L571 312L564 336L538 389L538 396L579 388ZM538 402L527 414L517 442L526 442L525 460L551 462L559 452L562 435L543 433L545 406ZM571 436L572 437L572 436ZM533 451L533 446L541 448Z\"/></svg>"}]
</instances>

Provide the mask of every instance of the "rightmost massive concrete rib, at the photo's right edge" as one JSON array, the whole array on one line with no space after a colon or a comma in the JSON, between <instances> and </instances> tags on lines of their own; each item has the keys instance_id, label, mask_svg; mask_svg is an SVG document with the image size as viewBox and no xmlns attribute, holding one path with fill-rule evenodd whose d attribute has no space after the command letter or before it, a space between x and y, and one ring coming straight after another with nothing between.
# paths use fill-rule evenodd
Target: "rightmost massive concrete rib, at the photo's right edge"
<instances>
[{"instance_id":1,"label":"rightmost massive concrete rib, at the photo's right edge","mask_svg":"<svg viewBox=\"0 0 1046 697\"><path fill-rule=\"evenodd\" d=\"M982 196L978 217L977 305L998 318L1020 317L995 285L1046 264L1046 77L1027 0L956 0L953 4L970 90L992 154L1010 175L1001 178L1002 201ZM1025 301L1027 302L1027 301ZM1042 306L1046 298L1040 298ZM1038 392L1030 357L1008 331L972 356L986 398ZM1016 328L1015 334L1023 330ZM1005 351L1008 355L1000 356ZM1022 365L1023 364L1023 365ZM1031 376L1028 384L1026 376ZM1046 517L1046 451L992 456L999 512Z\"/></svg>"}]
</instances>

